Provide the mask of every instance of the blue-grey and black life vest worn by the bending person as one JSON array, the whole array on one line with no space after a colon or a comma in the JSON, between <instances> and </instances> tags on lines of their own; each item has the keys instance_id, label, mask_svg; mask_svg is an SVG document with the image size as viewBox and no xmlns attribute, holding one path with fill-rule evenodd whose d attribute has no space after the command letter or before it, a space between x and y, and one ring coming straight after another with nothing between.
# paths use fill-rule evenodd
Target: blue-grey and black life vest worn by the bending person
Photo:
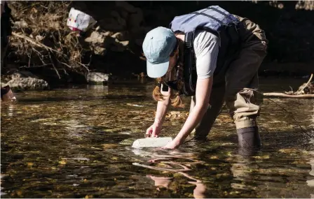
<instances>
[{"instance_id":1,"label":"blue-grey and black life vest worn by the bending person","mask_svg":"<svg viewBox=\"0 0 314 199\"><path fill-rule=\"evenodd\" d=\"M221 38L221 47L217 58L217 68L214 75L226 70L240 46L240 22L233 15L219 6L210 6L193 13L175 17L170 23L172 31L185 34L184 40L184 74L182 80L184 87L180 91L185 96L193 96L196 92L196 57L193 50L195 31L204 29ZM169 82L165 85L177 89Z\"/></svg>"}]
</instances>

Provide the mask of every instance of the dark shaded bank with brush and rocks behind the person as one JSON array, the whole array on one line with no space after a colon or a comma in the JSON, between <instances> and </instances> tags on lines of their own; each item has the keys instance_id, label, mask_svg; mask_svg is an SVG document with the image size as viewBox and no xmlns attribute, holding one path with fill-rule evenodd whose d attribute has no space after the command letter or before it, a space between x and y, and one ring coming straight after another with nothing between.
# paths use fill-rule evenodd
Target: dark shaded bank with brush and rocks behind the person
<instances>
[{"instance_id":1,"label":"dark shaded bank with brush and rocks behind the person","mask_svg":"<svg viewBox=\"0 0 314 199\"><path fill-rule=\"evenodd\" d=\"M86 82L92 71L131 78L146 71L142 40L147 31L167 27L176 15L219 5L266 31L268 56L261 75L307 75L314 60L309 2L302 8L298 1L10 1L16 22L1 73L25 70L58 83ZM71 7L92 15L95 27L81 36L71 31L66 25Z\"/></svg>"}]
</instances>

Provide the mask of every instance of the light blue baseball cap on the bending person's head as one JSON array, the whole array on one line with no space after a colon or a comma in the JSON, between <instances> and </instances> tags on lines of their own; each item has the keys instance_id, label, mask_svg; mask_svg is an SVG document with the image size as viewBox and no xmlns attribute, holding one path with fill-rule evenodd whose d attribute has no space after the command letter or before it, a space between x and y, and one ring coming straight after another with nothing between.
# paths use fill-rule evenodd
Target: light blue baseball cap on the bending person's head
<instances>
[{"instance_id":1,"label":"light blue baseball cap on the bending person's head","mask_svg":"<svg viewBox=\"0 0 314 199\"><path fill-rule=\"evenodd\" d=\"M150 78L161 78L167 73L170 54L176 43L175 34L164 27L157 27L146 34L142 49L146 57L147 75Z\"/></svg>"}]
</instances>

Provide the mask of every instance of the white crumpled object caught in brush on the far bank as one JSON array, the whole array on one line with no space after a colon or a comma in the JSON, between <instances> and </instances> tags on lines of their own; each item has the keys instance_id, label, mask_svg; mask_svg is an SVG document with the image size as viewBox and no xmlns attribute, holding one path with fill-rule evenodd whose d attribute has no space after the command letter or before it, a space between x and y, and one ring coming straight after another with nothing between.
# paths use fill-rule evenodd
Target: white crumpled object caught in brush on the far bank
<instances>
[{"instance_id":1,"label":"white crumpled object caught in brush on the far bank","mask_svg":"<svg viewBox=\"0 0 314 199\"><path fill-rule=\"evenodd\" d=\"M93 27L97 21L94 18L86 13L81 12L80 10L76 10L71 8L69 12L69 17L67 18L67 26L72 31L88 31L91 27Z\"/></svg>"}]
</instances>

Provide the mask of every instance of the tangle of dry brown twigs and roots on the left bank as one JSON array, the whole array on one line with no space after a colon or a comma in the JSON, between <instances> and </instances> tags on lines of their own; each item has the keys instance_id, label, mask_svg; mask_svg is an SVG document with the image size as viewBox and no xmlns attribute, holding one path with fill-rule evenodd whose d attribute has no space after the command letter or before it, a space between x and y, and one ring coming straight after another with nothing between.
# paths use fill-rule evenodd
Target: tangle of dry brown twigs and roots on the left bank
<instances>
[{"instance_id":1,"label":"tangle of dry brown twigs and roots on the left bank","mask_svg":"<svg viewBox=\"0 0 314 199\"><path fill-rule=\"evenodd\" d=\"M84 75L90 71L91 59L86 63L92 54L90 46L64 23L71 1L11 1L9 6L15 10L16 22L10 37L8 63L18 59L18 69L49 68L59 79L67 78L69 72Z\"/></svg>"}]
</instances>

